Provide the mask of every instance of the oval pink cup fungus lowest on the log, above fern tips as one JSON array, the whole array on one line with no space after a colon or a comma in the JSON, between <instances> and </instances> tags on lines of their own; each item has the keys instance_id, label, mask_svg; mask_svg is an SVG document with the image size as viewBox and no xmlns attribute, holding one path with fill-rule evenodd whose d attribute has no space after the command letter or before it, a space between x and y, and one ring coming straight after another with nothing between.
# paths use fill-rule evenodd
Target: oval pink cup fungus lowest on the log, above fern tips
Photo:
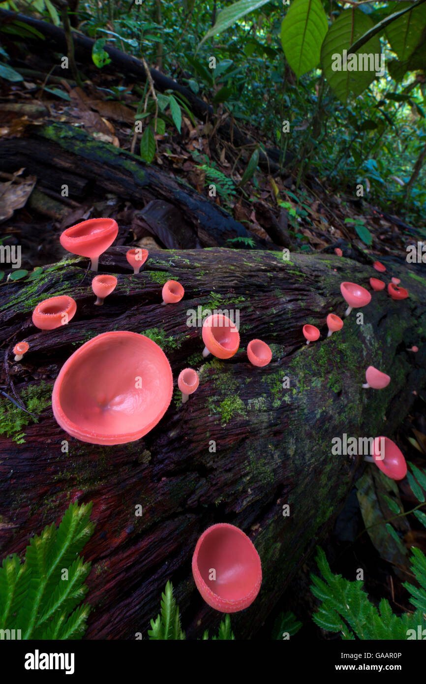
<instances>
[{"instance_id":1,"label":"oval pink cup fungus lowest on the log, above fern tips","mask_svg":"<svg viewBox=\"0 0 426 684\"><path fill-rule=\"evenodd\" d=\"M221 613L237 613L253 603L261 588L261 559L239 527L219 523L198 539L192 575L209 606Z\"/></svg>"}]
</instances>

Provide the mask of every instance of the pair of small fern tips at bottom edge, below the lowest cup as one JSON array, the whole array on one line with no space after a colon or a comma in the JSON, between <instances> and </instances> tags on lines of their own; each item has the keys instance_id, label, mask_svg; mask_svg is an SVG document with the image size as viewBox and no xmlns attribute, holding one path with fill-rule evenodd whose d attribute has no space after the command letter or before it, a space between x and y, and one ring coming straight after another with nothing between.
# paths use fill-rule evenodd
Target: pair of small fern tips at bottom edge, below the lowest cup
<instances>
[{"instance_id":1,"label":"pair of small fern tips at bottom edge, below the lowest cup","mask_svg":"<svg viewBox=\"0 0 426 684\"><path fill-rule=\"evenodd\" d=\"M181 628L181 618L179 607L173 596L172 582L168 581L165 591L161 594L161 611L155 620L151 620L151 628L148 629L148 639L150 641L159 640L185 640L185 632ZM204 631L203 640L209 639L209 631ZM219 624L219 633L213 637L213 641L233 641L235 636L230 629L229 615Z\"/></svg>"}]
</instances>

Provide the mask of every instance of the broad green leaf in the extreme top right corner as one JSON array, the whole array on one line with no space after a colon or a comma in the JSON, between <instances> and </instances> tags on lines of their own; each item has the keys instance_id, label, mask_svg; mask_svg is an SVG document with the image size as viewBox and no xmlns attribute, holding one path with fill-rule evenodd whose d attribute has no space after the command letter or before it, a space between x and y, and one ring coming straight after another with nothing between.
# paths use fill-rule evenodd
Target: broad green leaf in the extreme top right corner
<instances>
[{"instance_id":1,"label":"broad green leaf in the extreme top right corner","mask_svg":"<svg viewBox=\"0 0 426 684\"><path fill-rule=\"evenodd\" d=\"M412 3L395 3L395 9L410 8L387 27L386 37L399 60L408 60L421 40L426 27L426 3L412 9Z\"/></svg>"}]
</instances>

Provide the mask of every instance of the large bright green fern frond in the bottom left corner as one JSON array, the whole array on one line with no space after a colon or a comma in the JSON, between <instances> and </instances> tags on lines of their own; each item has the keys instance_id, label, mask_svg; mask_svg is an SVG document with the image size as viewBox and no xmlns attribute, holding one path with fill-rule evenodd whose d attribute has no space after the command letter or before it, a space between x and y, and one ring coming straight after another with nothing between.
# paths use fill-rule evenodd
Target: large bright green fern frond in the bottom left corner
<instances>
[{"instance_id":1,"label":"large bright green fern frond in the bottom left corner","mask_svg":"<svg viewBox=\"0 0 426 684\"><path fill-rule=\"evenodd\" d=\"M57 529L31 538L23 564L16 553L3 560L0 629L20 629L22 639L81 638L90 606L79 604L90 563L78 554L94 530L91 511L92 503L72 503Z\"/></svg>"}]
</instances>

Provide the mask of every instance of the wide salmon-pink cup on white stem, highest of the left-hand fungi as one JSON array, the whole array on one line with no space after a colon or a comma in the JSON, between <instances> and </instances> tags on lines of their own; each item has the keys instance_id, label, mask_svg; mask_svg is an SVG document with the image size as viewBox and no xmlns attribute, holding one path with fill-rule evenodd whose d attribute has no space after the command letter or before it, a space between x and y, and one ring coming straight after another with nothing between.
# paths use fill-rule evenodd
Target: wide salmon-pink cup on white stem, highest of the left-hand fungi
<instances>
[{"instance_id":1,"label":"wide salmon-pink cup on white stem, highest of the left-hand fungi","mask_svg":"<svg viewBox=\"0 0 426 684\"><path fill-rule=\"evenodd\" d=\"M59 241L64 249L92 261L92 271L98 270L99 257L118 235L118 225L112 218L92 218L67 228Z\"/></svg>"}]
</instances>

